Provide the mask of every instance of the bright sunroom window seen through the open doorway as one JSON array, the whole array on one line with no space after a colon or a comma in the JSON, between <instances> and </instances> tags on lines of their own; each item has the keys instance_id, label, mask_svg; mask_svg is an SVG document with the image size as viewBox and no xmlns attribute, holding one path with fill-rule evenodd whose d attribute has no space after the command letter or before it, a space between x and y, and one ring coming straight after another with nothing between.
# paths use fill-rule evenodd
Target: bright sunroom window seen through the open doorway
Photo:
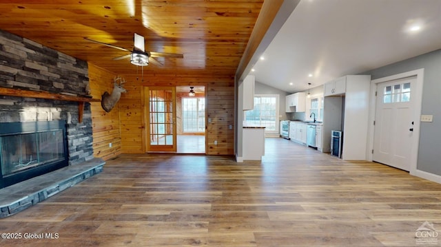
<instances>
[{"instance_id":1,"label":"bright sunroom window seen through the open doorway","mask_svg":"<svg viewBox=\"0 0 441 247\"><path fill-rule=\"evenodd\" d=\"M205 131L205 98L182 99L183 132Z\"/></svg>"}]
</instances>

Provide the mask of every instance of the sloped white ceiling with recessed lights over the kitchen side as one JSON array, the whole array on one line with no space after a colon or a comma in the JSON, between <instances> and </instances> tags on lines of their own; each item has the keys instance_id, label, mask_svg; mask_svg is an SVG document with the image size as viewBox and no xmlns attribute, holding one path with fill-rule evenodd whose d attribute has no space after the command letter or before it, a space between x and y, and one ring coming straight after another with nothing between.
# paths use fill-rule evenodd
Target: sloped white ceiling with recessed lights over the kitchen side
<instances>
[{"instance_id":1,"label":"sloped white ceiling with recessed lights over the kitchen side","mask_svg":"<svg viewBox=\"0 0 441 247\"><path fill-rule=\"evenodd\" d=\"M440 48L441 0L301 0L249 74L292 93Z\"/></svg>"}]
</instances>

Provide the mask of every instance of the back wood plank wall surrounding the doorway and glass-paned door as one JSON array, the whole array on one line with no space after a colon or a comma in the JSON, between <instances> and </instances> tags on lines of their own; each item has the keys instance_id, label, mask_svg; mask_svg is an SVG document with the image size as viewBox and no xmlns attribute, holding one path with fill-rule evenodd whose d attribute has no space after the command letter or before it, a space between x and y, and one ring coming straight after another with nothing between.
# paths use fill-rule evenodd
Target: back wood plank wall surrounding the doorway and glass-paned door
<instances>
[{"instance_id":1,"label":"back wood plank wall surrounding the doorway and glass-paned door","mask_svg":"<svg viewBox=\"0 0 441 247\"><path fill-rule=\"evenodd\" d=\"M234 154L234 77L146 74L124 76L127 83L119 101L121 118L121 152L145 153L145 119L143 88L148 86L204 85L207 87L207 151L209 155ZM229 126L232 129L229 129ZM215 145L214 141L218 144Z\"/></svg>"}]
</instances>

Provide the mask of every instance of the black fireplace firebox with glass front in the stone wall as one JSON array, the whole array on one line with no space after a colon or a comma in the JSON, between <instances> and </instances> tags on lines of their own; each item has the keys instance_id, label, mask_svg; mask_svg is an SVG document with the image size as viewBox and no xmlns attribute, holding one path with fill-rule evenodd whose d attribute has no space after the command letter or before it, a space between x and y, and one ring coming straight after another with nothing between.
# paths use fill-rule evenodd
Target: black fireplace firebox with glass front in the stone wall
<instances>
[{"instance_id":1,"label":"black fireplace firebox with glass front in the stone wall","mask_svg":"<svg viewBox=\"0 0 441 247\"><path fill-rule=\"evenodd\" d=\"M68 166L66 122L0 123L0 189Z\"/></svg>"}]
</instances>

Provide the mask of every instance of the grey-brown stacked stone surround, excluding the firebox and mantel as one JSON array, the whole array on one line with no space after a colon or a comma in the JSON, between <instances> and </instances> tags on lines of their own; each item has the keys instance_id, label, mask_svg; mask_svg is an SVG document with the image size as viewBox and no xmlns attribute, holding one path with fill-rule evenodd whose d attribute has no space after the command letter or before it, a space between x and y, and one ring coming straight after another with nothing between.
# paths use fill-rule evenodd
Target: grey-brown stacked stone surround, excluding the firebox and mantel
<instances>
[{"instance_id":1,"label":"grey-brown stacked stone surround, excluding the firebox and mantel","mask_svg":"<svg viewBox=\"0 0 441 247\"><path fill-rule=\"evenodd\" d=\"M87 62L0 30L0 87L88 97L88 84ZM52 120L67 122L70 166L103 165L93 156L90 103L85 103L79 122L76 102L0 96L0 122Z\"/></svg>"}]
</instances>

